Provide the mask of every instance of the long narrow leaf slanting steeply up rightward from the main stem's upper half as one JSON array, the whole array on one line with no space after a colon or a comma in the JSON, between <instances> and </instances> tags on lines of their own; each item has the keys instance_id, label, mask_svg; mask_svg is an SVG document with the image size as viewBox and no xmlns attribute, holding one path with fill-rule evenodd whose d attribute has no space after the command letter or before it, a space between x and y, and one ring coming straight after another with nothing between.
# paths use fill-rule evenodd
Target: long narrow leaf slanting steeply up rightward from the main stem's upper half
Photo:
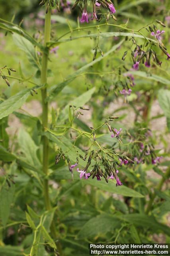
<instances>
[{"instance_id":1,"label":"long narrow leaf slanting steeply up rightward from the main stem's upper half","mask_svg":"<svg viewBox=\"0 0 170 256\"><path fill-rule=\"evenodd\" d=\"M49 101L51 99L53 99L57 94L59 94L59 92L61 92L63 90L63 88L69 84L71 81L73 81L78 75L82 74L86 69L90 68L91 66L93 66L94 64L96 64L97 62L99 62L100 60L106 58L109 54L111 54L112 52L114 52L117 48L119 48L119 46L121 46L121 44L123 44L125 40L121 40L118 44L114 45L108 52L106 52L104 54L104 56L100 56L99 58L97 58L96 60L84 65L82 68L79 68L76 72L74 72L73 74L67 76L67 78L65 79L65 81L61 82L60 84L56 84L54 86L52 86L49 90L48 90L48 94L49 96L46 98L46 101Z\"/></svg>"}]
</instances>

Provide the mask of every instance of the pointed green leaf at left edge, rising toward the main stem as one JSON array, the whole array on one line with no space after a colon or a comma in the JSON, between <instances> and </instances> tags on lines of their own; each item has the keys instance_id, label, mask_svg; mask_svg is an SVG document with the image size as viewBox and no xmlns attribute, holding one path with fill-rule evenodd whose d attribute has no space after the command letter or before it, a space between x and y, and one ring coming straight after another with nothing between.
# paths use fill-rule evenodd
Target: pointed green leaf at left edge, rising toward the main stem
<instances>
[{"instance_id":1,"label":"pointed green leaf at left edge, rising toward the main stem","mask_svg":"<svg viewBox=\"0 0 170 256\"><path fill-rule=\"evenodd\" d=\"M8 100L4 100L4 102L0 104L0 119L12 114L12 112L20 108L29 95L30 89L24 89L8 98Z\"/></svg>"}]
</instances>

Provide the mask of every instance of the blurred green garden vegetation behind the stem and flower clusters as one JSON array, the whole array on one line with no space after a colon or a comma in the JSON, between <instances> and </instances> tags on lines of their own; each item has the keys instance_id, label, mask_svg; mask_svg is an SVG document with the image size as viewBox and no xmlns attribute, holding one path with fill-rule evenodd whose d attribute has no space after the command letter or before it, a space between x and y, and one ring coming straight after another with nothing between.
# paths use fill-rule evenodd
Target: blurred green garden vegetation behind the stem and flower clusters
<instances>
[{"instance_id":1,"label":"blurred green garden vegetation behind the stem and flower clusters","mask_svg":"<svg viewBox=\"0 0 170 256\"><path fill-rule=\"evenodd\" d=\"M45 10L38 4L36 0L0 0L0 17L10 21L16 14L13 22L20 24L23 19L21 27L41 42ZM117 22L110 18L109 24L138 30L156 19L164 22L166 32L162 41L170 52L170 21L166 18L170 16L168 0L122 0L115 1L115 6ZM78 16L81 16L78 9L69 12L61 8L60 14L53 10L51 40L55 41L77 28ZM84 115L74 119L74 127L91 132L90 126L96 128L108 116L118 116L114 127L122 128L123 144L111 138L105 126L98 130L102 136L98 136L97 141L133 157L140 150L135 141L144 141L145 145L154 145L156 155L162 157L161 162L155 165L148 158L144 163L122 166L119 176L123 186L120 187L116 187L112 180L108 184L105 180L80 180L76 170L72 180L66 161L61 160L55 165L55 156L60 148L64 151L72 146L70 137L75 137L76 132L69 130L64 136L63 131L62 134L59 131L48 132L50 153L49 175L46 178L49 180L53 208L45 210L44 176L39 172L43 154L41 93L29 93L19 110L15 109L13 114L0 120L0 254L3 256L57 255L58 248L64 256L87 256L89 242L170 243L170 65L164 53L156 50L162 66L152 62L150 68L141 65L139 71L132 70L135 86L125 102L119 90L115 94L113 88L120 74L125 76L133 66L131 36L121 44L125 37L107 37L105 33L128 32L123 28L89 28L105 22L103 19L99 23L90 21L89 24L80 24L83 30L73 32L72 40L70 34L62 37L56 52L50 53L48 87L59 87L63 81L65 84L63 90L50 96L49 130L69 122L69 105L85 106L90 111L82 111ZM161 26L156 26L162 30ZM98 34L99 29L103 36L100 36L98 44L98 37L89 36L89 33ZM151 38L145 28L143 34ZM74 37L80 38L74 40ZM144 41L143 38L135 40L138 45ZM119 43L117 49L109 52ZM98 50L94 62L97 45L104 57ZM128 54L123 61L126 50ZM14 78L8 78L10 87L0 78L1 103L25 88L32 88L32 83L39 84L41 72L32 52L40 54L41 58L41 51L28 40L16 33L0 30L0 67L6 65L16 70L11 74ZM88 63L87 69L78 71ZM8 109L20 104L20 101L11 102ZM0 106L0 115L3 111ZM84 150L88 147L86 137L80 136L76 140L76 149L82 156L85 156ZM76 162L76 156L74 149L70 150L72 164ZM80 159L79 164L83 167L84 161ZM50 231L53 219L57 230L55 237ZM37 231L39 225L44 228L41 233L39 229Z\"/></svg>"}]
</instances>

